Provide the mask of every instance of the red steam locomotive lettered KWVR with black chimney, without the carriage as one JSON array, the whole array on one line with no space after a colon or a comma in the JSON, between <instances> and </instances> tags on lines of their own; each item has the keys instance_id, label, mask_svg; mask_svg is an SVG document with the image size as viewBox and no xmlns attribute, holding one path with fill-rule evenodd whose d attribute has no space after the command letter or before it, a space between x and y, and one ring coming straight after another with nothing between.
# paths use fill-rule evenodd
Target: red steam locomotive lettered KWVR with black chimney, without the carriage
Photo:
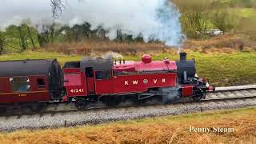
<instances>
[{"instance_id":1,"label":"red steam locomotive lettered KWVR with black chimney, without the carriage","mask_svg":"<svg viewBox=\"0 0 256 144\"><path fill-rule=\"evenodd\" d=\"M66 62L64 66L66 97L76 100L82 109L88 102L118 104L123 96L138 101L161 96L163 102L182 97L198 101L205 98L213 86L197 78L194 61L187 61L182 53L179 61L152 61L144 55L141 62L102 58L83 58L81 62Z\"/></svg>"}]
</instances>

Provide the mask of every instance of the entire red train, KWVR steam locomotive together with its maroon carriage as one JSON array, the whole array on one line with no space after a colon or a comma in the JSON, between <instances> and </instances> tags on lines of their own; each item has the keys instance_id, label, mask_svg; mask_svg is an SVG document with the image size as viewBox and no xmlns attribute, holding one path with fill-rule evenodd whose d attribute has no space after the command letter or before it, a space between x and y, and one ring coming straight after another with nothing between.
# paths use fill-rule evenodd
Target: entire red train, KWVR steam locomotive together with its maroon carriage
<instances>
[{"instance_id":1,"label":"entire red train, KWVR steam locomotive together with its maroon carriage","mask_svg":"<svg viewBox=\"0 0 256 144\"><path fill-rule=\"evenodd\" d=\"M195 62L186 60L186 53L178 61L152 61L148 54L140 62L82 58L63 68L55 58L0 62L0 105L74 102L85 109L97 102L117 106L126 99L198 102L214 86L195 71Z\"/></svg>"}]
</instances>

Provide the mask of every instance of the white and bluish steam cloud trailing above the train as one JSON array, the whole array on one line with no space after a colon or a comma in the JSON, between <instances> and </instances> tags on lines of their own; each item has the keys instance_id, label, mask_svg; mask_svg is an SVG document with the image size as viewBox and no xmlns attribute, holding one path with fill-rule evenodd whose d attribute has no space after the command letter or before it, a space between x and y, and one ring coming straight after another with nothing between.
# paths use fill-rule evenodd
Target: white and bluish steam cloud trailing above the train
<instances>
[{"instance_id":1,"label":"white and bluish steam cloud trailing above the train","mask_svg":"<svg viewBox=\"0 0 256 144\"><path fill-rule=\"evenodd\" d=\"M117 30L166 42L168 46L180 46L183 41L180 14L169 0L66 0L67 5L59 18L54 19L49 0L2 0L0 5L0 30L10 25L20 25L24 19L30 26L49 25L58 22L74 26L89 22L91 29L103 26L109 30L110 39ZM40 28L40 27L39 27Z\"/></svg>"}]
</instances>

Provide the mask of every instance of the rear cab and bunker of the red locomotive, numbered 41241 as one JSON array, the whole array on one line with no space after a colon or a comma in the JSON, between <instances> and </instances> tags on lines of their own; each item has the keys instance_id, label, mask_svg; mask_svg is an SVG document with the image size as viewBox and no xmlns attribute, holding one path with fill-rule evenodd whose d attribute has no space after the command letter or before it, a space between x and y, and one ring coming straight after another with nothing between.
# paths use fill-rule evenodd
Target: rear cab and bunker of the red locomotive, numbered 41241
<instances>
[{"instance_id":1,"label":"rear cab and bunker of the red locomotive, numbered 41241","mask_svg":"<svg viewBox=\"0 0 256 144\"><path fill-rule=\"evenodd\" d=\"M112 92L111 86L114 63L103 58L82 58L81 62L66 62L64 86L68 97L86 97Z\"/></svg>"}]
</instances>

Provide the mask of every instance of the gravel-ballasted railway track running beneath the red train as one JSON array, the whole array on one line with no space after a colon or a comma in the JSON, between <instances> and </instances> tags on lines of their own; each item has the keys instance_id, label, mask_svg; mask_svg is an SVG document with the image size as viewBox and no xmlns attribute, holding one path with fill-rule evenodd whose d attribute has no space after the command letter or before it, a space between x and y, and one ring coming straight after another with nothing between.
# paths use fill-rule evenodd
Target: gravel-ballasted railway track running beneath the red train
<instances>
[{"instance_id":1,"label":"gravel-ballasted railway track running beneath the red train","mask_svg":"<svg viewBox=\"0 0 256 144\"><path fill-rule=\"evenodd\" d=\"M182 102L159 105L149 102L142 106L125 103L117 108L103 105L76 110L70 104L52 105L41 114L13 114L0 117L0 130L38 129L46 127L97 124L133 118L155 117L169 114L187 114L196 111L256 106L256 85L219 87L201 102L184 99Z\"/></svg>"}]
</instances>

